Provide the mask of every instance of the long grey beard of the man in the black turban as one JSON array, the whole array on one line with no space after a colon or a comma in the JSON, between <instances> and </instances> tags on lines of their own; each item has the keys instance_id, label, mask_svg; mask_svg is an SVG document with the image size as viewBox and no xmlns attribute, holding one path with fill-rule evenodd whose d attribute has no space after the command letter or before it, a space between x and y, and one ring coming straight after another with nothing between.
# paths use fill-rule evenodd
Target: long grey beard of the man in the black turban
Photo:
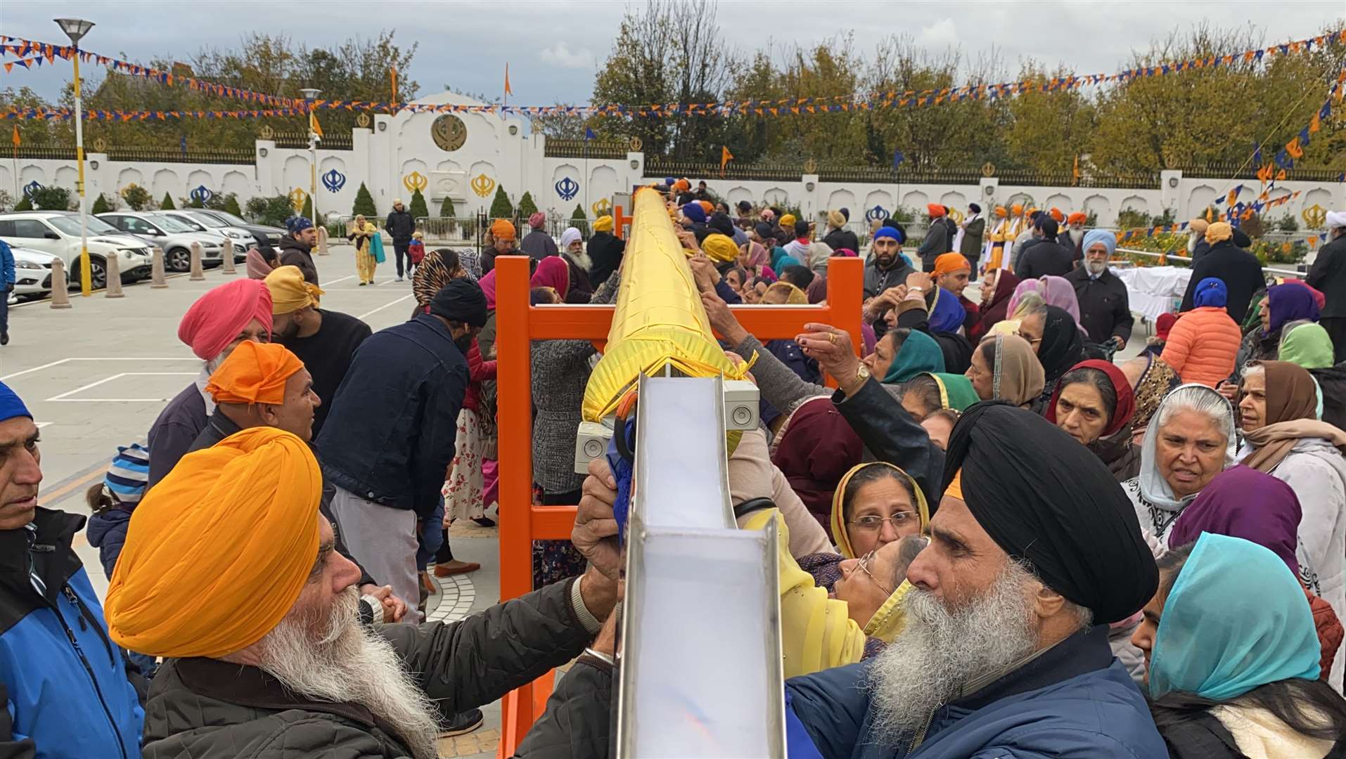
<instances>
[{"instance_id":1,"label":"long grey beard of the man in the black turban","mask_svg":"<svg viewBox=\"0 0 1346 759\"><path fill-rule=\"evenodd\" d=\"M875 658L867 684L879 740L909 740L975 678L1036 650L1032 584L1032 575L1011 563L961 608L948 610L919 588L907 593L906 624Z\"/></svg>"}]
</instances>

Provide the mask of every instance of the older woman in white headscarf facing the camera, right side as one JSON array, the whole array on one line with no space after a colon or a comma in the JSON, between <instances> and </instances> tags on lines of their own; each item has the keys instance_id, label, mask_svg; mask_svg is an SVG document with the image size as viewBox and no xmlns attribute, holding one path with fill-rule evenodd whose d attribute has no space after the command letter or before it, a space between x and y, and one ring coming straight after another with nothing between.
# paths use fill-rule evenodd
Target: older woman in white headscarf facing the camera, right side
<instances>
[{"instance_id":1,"label":"older woman in white headscarf facing the camera, right side","mask_svg":"<svg viewBox=\"0 0 1346 759\"><path fill-rule=\"evenodd\" d=\"M1155 557L1202 489L1234 464L1234 409L1205 385L1180 385L1159 402L1140 448L1140 475L1121 483Z\"/></svg>"}]
</instances>

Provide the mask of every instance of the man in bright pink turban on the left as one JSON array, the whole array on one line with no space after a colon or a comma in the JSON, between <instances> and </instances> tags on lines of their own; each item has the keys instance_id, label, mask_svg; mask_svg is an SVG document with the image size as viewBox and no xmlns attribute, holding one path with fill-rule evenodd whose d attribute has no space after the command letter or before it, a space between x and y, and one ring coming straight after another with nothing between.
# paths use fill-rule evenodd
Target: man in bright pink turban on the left
<instances>
[{"instance_id":1,"label":"man in bright pink turban on the left","mask_svg":"<svg viewBox=\"0 0 1346 759\"><path fill-rule=\"evenodd\" d=\"M149 482L168 475L206 428L215 401L206 384L244 340L271 342L271 291L260 280L222 284L191 304L178 324L178 339L205 362L201 374L168 401L149 428Z\"/></svg>"}]
</instances>

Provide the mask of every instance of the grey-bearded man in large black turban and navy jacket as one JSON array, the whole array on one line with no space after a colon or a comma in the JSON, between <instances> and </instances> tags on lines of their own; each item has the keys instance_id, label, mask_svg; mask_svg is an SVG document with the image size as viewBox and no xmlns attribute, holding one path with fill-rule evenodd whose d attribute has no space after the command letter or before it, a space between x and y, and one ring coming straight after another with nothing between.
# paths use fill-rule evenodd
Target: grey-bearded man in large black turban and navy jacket
<instances>
[{"instance_id":1,"label":"grey-bearded man in large black turban and navy jacket","mask_svg":"<svg viewBox=\"0 0 1346 759\"><path fill-rule=\"evenodd\" d=\"M1040 416L972 406L949 439L905 627L868 663L786 684L824 756L1166 756L1104 623L1155 561L1108 468Z\"/></svg>"}]
</instances>

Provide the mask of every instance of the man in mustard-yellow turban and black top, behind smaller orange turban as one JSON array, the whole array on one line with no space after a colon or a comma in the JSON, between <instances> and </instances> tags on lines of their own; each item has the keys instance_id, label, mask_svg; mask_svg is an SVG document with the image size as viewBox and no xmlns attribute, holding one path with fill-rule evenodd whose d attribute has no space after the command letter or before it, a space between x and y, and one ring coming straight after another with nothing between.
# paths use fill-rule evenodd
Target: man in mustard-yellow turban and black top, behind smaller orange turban
<instances>
[{"instance_id":1,"label":"man in mustard-yellow turban and black top, behind smaller orange turban","mask_svg":"<svg viewBox=\"0 0 1346 759\"><path fill-rule=\"evenodd\" d=\"M295 266L280 266L264 280L271 291L271 339L291 350L312 374L324 405L314 413L314 436L327 421L328 404L346 378L355 349L373 334L369 324L339 311L318 308L323 291L306 283Z\"/></svg>"}]
</instances>

